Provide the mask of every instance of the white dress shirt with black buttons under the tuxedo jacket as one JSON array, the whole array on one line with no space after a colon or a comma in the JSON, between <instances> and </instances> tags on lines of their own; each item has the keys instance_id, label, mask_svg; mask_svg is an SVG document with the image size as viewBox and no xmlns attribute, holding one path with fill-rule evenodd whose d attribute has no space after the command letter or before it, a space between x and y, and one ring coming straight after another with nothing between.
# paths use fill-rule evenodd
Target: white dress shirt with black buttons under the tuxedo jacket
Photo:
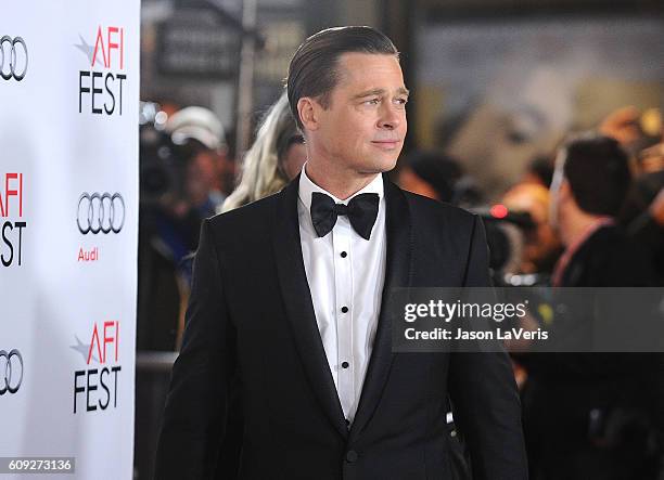
<instances>
[{"instance_id":1,"label":"white dress shirt with black buttons under the tuxedo jacket","mask_svg":"<svg viewBox=\"0 0 664 480\"><path fill-rule=\"evenodd\" d=\"M341 200L316 185L305 168L306 164L299 176L297 202L302 256L320 338L344 415L352 423L371 358L385 282L383 177L378 174L362 190ZM341 215L332 231L319 237L309 212L314 192L345 205L361 193L376 193L379 212L370 238L359 236L348 217Z\"/></svg>"}]
</instances>

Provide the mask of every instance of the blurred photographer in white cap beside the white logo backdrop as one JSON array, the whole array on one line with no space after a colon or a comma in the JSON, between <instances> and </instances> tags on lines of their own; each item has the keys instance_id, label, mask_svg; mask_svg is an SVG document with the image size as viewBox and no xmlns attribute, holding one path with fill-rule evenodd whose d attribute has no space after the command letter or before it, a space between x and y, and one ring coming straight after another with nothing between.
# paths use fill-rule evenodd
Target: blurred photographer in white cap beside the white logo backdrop
<instances>
[{"instance_id":1,"label":"blurred photographer in white cap beside the white logo backdrop","mask_svg":"<svg viewBox=\"0 0 664 480\"><path fill-rule=\"evenodd\" d=\"M145 103L140 126L137 346L176 350L189 298L199 229L225 199L232 179L224 128L203 107L167 117Z\"/></svg>"}]
</instances>

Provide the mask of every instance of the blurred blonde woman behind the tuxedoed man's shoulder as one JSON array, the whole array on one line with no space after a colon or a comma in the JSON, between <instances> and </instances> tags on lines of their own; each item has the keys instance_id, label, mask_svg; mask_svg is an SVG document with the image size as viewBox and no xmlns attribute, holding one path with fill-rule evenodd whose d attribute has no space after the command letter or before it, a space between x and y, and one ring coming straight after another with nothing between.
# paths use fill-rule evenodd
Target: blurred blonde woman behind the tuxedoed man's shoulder
<instances>
[{"instance_id":1,"label":"blurred blonde woman behind the tuxedoed man's shoulder","mask_svg":"<svg viewBox=\"0 0 664 480\"><path fill-rule=\"evenodd\" d=\"M279 192L297 177L305 161L304 137L284 92L266 114L254 144L244 155L240 184L224 202L221 211Z\"/></svg>"}]
</instances>

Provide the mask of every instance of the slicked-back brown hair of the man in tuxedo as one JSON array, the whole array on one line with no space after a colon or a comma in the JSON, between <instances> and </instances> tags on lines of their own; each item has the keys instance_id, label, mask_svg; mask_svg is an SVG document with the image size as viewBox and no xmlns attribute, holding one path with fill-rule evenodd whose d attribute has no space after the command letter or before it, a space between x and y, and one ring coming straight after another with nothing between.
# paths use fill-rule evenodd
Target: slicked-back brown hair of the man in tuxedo
<instances>
[{"instance_id":1,"label":"slicked-back brown hair of the man in tuxedo","mask_svg":"<svg viewBox=\"0 0 664 480\"><path fill-rule=\"evenodd\" d=\"M392 40L371 27L328 28L307 38L293 55L286 79L291 112L303 132L297 102L310 96L323 108L330 106L330 92L339 81L339 59L344 53L386 54L397 59L399 55Z\"/></svg>"}]
</instances>

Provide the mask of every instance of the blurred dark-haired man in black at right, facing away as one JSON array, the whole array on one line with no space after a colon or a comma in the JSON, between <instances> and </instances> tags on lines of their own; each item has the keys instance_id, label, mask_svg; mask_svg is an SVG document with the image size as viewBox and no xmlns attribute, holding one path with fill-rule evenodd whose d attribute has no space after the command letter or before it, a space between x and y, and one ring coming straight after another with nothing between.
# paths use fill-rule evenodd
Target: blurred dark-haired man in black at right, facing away
<instances>
[{"instance_id":1,"label":"blurred dark-haired man in black at right, facing away","mask_svg":"<svg viewBox=\"0 0 664 480\"><path fill-rule=\"evenodd\" d=\"M652 284L648 258L615 222L629 183L627 155L614 139L585 135L560 151L552 219L565 250L553 271L554 287ZM655 355L560 353L519 360L529 375L523 402L534 480L655 478Z\"/></svg>"}]
</instances>

